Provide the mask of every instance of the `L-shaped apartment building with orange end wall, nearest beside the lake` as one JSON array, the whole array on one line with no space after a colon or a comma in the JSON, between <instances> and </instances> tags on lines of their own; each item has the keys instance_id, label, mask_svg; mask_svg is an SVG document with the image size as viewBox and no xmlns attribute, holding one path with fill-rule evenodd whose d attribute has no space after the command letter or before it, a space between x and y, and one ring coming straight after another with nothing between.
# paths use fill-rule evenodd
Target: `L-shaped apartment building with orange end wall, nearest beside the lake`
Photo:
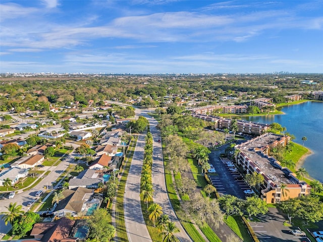
<instances>
[{"instance_id":1,"label":"L-shaped apartment building with orange end wall, nearest beside the lake","mask_svg":"<svg viewBox=\"0 0 323 242\"><path fill-rule=\"evenodd\" d=\"M310 194L311 187L305 181L298 179L295 173L268 155L272 147L279 144L286 146L289 141L288 136L268 133L235 146L240 151L236 163L244 173L257 172L263 176L264 183L259 192L266 203L277 203ZM282 185L286 186L285 189L282 189Z\"/></svg>"}]
</instances>

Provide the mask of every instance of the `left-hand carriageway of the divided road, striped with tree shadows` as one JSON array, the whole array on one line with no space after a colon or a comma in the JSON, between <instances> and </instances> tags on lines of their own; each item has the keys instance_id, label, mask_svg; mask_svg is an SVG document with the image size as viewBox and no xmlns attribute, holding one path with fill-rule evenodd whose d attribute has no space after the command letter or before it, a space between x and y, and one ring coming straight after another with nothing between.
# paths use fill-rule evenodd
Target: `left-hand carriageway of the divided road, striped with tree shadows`
<instances>
[{"instance_id":1,"label":"left-hand carriageway of the divided road, striped with tree shadows","mask_svg":"<svg viewBox=\"0 0 323 242\"><path fill-rule=\"evenodd\" d=\"M151 242L140 204L140 177L145 146L145 136L139 135L127 178L124 211L130 242Z\"/></svg>"}]
</instances>

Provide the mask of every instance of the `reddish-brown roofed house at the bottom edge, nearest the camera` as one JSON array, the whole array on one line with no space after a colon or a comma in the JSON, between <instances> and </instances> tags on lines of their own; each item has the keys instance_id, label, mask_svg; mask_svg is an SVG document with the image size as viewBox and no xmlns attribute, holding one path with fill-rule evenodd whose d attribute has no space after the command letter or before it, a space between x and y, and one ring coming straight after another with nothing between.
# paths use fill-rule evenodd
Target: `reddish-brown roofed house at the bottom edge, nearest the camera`
<instances>
[{"instance_id":1,"label":"reddish-brown roofed house at the bottom edge, nearest the camera","mask_svg":"<svg viewBox=\"0 0 323 242\"><path fill-rule=\"evenodd\" d=\"M35 223L30 236L42 242L74 242L77 238L71 235L75 220L62 217L53 222Z\"/></svg>"}]
</instances>

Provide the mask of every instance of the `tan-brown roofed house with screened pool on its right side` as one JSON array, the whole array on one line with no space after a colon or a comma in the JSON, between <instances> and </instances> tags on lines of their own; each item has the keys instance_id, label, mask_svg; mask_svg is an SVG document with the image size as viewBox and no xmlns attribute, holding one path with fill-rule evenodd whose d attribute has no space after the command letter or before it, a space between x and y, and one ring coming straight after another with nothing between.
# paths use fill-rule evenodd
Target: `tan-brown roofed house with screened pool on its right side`
<instances>
[{"instance_id":1,"label":"tan-brown roofed house with screened pool on its right side","mask_svg":"<svg viewBox=\"0 0 323 242\"><path fill-rule=\"evenodd\" d=\"M67 189L63 191L63 195L65 198L53 211L57 217L64 217L67 214L90 216L102 203L102 196L93 194L92 189L82 187Z\"/></svg>"}]
</instances>

